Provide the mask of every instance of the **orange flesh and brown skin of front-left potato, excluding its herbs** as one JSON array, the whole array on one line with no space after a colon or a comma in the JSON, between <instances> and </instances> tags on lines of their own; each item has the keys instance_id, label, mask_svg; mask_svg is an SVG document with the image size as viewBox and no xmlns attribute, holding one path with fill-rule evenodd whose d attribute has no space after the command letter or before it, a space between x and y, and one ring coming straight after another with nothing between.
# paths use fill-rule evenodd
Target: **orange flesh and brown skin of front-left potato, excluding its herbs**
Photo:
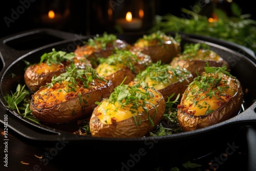
<instances>
[{"instance_id":1,"label":"orange flesh and brown skin of front-left potato, excluding its herbs","mask_svg":"<svg viewBox=\"0 0 256 171\"><path fill-rule=\"evenodd\" d=\"M96 107L95 102L109 97L114 89L111 80L108 82L95 80L90 88L78 89L82 98L82 102L80 102L79 91L69 93L67 99L65 96L65 99L57 100L55 96L58 95L57 91L61 86L62 84L55 87L56 90L47 90L47 87L41 87L32 96L30 104L32 115L42 123L57 124L74 121L81 117L90 117Z\"/></svg>"}]
</instances>

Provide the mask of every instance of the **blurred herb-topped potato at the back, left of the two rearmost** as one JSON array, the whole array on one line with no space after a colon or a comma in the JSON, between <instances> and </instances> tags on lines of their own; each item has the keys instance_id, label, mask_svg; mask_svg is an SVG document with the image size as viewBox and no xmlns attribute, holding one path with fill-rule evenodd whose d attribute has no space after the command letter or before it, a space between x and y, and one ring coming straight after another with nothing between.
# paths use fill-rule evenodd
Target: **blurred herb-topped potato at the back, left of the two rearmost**
<instances>
[{"instance_id":1,"label":"blurred herb-topped potato at the back, left of the two rearmost","mask_svg":"<svg viewBox=\"0 0 256 171\"><path fill-rule=\"evenodd\" d=\"M74 53L76 56L86 57L93 68L96 68L99 63L98 58L106 58L116 49L127 49L129 46L126 41L118 39L116 35L104 32L103 35L96 34L93 38L89 38L83 46L77 46Z\"/></svg>"}]
</instances>

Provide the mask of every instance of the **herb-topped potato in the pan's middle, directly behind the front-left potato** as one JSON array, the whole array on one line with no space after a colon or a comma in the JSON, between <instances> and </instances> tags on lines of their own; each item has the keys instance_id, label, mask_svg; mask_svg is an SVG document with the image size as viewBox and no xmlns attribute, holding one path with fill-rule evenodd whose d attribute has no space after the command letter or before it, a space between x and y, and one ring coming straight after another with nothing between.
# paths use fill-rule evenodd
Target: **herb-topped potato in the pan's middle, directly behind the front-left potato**
<instances>
[{"instance_id":1,"label":"herb-topped potato in the pan's middle, directly behind the front-left potato","mask_svg":"<svg viewBox=\"0 0 256 171\"><path fill-rule=\"evenodd\" d=\"M126 77L124 84L131 82L134 77L151 65L151 57L141 52L119 50L108 58L101 58L96 71L99 76L110 79L117 87Z\"/></svg>"}]
</instances>

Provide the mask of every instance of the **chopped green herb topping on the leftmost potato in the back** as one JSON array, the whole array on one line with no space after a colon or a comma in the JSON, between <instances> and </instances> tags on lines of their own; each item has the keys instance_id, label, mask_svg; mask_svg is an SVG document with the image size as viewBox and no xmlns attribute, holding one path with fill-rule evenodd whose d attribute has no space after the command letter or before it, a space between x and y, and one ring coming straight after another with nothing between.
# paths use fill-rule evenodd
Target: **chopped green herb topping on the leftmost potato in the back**
<instances>
[{"instance_id":1,"label":"chopped green herb topping on the leftmost potato in the back","mask_svg":"<svg viewBox=\"0 0 256 171\"><path fill-rule=\"evenodd\" d=\"M61 63L63 61L71 61L75 57L73 52L67 53L64 51L56 51L54 48L52 52L44 53L40 58L41 62L46 62L47 65L51 66L51 64Z\"/></svg>"}]
</instances>

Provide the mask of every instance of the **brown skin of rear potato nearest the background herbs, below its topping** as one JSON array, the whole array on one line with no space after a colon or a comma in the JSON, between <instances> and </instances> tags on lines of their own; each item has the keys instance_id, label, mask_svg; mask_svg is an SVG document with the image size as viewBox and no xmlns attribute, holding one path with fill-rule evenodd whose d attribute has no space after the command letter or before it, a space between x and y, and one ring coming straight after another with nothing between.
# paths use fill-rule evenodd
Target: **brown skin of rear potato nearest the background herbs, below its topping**
<instances>
[{"instance_id":1,"label":"brown skin of rear potato nearest the background herbs, below its topping","mask_svg":"<svg viewBox=\"0 0 256 171\"><path fill-rule=\"evenodd\" d=\"M178 43L172 42L170 44L151 45L147 47L136 47L135 45L130 48L130 51L140 51L150 55L154 63L161 60L162 63L167 64L180 53L181 47Z\"/></svg>"}]
</instances>

